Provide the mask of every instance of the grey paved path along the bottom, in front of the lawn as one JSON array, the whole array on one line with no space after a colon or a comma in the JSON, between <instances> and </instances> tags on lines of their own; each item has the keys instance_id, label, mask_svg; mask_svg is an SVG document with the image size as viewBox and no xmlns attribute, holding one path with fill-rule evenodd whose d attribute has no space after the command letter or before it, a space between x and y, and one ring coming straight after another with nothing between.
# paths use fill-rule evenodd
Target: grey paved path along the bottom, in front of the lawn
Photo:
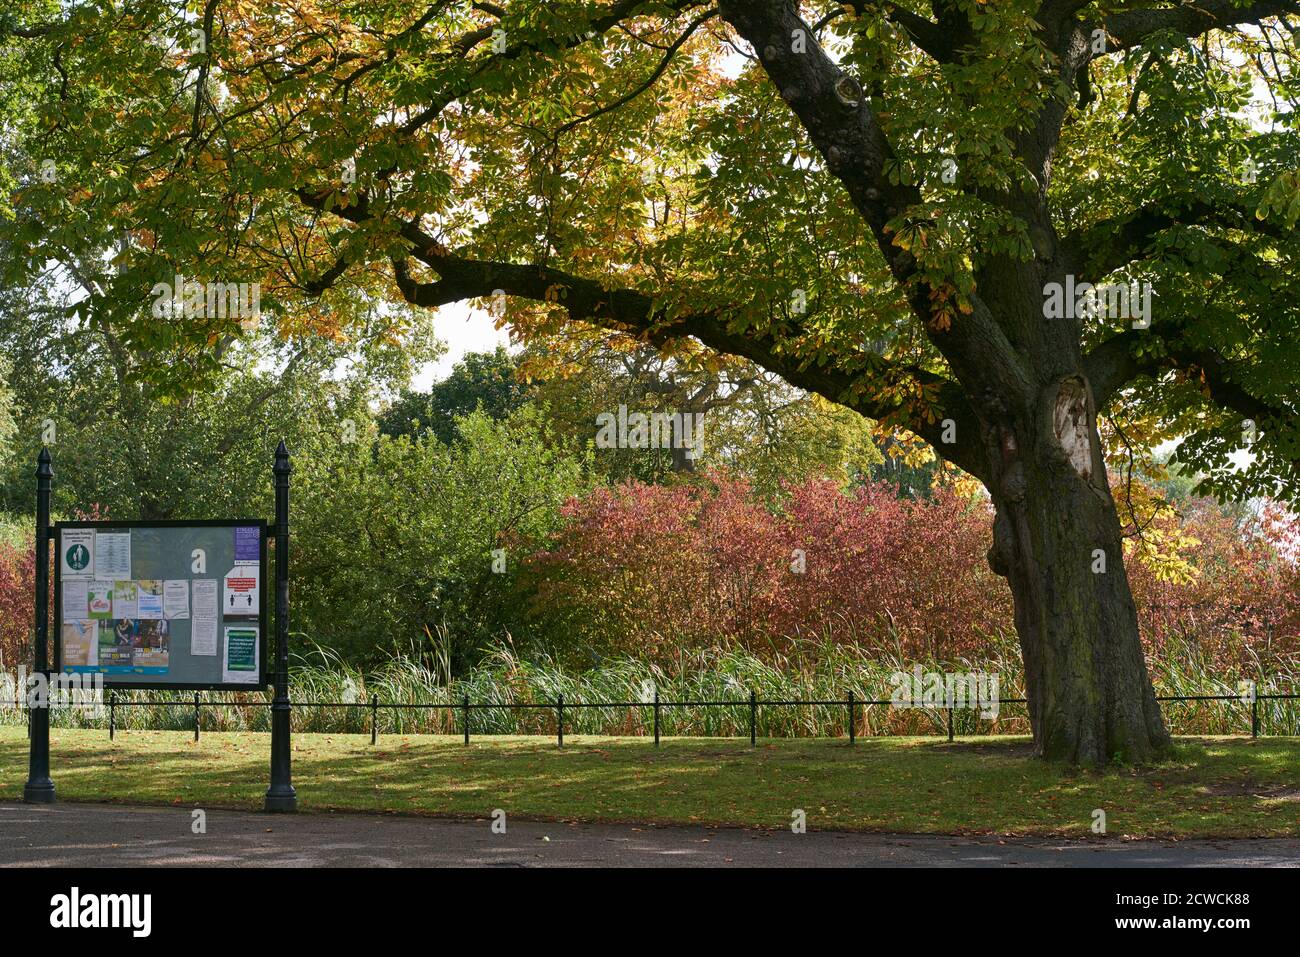
<instances>
[{"instance_id":1,"label":"grey paved path along the bottom, in front of the lawn","mask_svg":"<svg viewBox=\"0 0 1300 957\"><path fill-rule=\"evenodd\" d=\"M1001 840L741 828L560 824L0 802L0 866L710 867L1300 866L1300 839L1210 841Z\"/></svg>"}]
</instances>

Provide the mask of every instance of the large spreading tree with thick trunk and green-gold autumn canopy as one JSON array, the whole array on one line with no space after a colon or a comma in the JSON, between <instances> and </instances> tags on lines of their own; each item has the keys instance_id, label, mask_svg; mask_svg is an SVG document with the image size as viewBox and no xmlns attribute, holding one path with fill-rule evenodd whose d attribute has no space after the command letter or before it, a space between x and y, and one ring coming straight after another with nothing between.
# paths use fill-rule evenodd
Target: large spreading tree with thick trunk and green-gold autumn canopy
<instances>
[{"instance_id":1,"label":"large spreading tree with thick trunk and green-gold autumn canopy","mask_svg":"<svg viewBox=\"0 0 1300 957\"><path fill-rule=\"evenodd\" d=\"M1297 13L20 0L5 265L117 250L86 321L155 354L231 333L150 315L177 272L260 281L285 335L348 334L339 290L484 298L910 429L996 506L1037 750L1141 761L1169 737L1098 417L1296 493ZM1060 294L1131 282L1149 325Z\"/></svg>"}]
</instances>

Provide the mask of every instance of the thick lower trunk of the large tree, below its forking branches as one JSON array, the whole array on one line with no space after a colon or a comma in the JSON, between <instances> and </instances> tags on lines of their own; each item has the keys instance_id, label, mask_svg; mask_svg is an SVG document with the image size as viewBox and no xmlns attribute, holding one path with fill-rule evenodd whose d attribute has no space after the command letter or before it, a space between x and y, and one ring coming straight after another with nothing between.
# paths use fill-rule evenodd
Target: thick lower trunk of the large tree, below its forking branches
<instances>
[{"instance_id":1,"label":"thick lower trunk of the large tree, below its forking branches","mask_svg":"<svg viewBox=\"0 0 1300 957\"><path fill-rule=\"evenodd\" d=\"M1035 752L1079 765L1169 746L1124 573L1119 518L1082 376L1015 425L985 428L997 506L989 563L1015 601Z\"/></svg>"}]
</instances>

